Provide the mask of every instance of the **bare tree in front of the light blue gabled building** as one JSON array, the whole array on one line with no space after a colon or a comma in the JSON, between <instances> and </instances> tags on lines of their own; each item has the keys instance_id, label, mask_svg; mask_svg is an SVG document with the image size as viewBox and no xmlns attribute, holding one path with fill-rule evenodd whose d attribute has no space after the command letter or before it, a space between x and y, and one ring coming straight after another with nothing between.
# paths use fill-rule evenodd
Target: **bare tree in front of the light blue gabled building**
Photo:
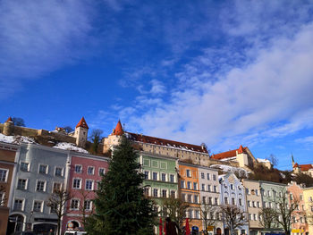
<instances>
[{"instance_id":1,"label":"bare tree in front of the light blue gabled building","mask_svg":"<svg viewBox=\"0 0 313 235\"><path fill-rule=\"evenodd\" d=\"M240 228L248 222L246 213L241 211L241 208L237 206L223 205L220 207L220 212L226 227L231 231L231 235L234 234L237 228Z\"/></svg>"}]
</instances>

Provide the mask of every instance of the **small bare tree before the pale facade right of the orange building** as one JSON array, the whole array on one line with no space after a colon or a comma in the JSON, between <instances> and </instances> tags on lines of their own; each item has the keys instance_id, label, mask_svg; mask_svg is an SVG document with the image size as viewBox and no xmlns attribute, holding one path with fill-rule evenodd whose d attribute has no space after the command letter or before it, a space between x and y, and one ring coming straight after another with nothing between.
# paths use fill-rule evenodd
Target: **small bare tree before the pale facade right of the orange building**
<instances>
[{"instance_id":1,"label":"small bare tree before the pale facade right of the orange building","mask_svg":"<svg viewBox=\"0 0 313 235\"><path fill-rule=\"evenodd\" d=\"M208 204L206 202L201 205L200 216L206 228L205 234L208 234L207 226L213 226L216 224L216 221L218 220L218 214L219 212L215 205Z\"/></svg>"}]
</instances>

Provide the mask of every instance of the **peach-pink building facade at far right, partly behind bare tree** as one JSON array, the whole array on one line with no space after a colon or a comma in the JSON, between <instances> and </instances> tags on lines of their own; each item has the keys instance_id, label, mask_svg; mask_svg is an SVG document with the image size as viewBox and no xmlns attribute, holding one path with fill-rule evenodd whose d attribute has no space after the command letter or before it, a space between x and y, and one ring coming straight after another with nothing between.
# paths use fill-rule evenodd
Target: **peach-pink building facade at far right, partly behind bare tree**
<instances>
[{"instance_id":1,"label":"peach-pink building facade at far right, partly behind bare tree","mask_svg":"<svg viewBox=\"0 0 313 235\"><path fill-rule=\"evenodd\" d=\"M299 201L296 210L292 213L292 235L309 234L309 225L306 217L303 190L296 182L288 184L287 191L290 200Z\"/></svg>"}]
</instances>

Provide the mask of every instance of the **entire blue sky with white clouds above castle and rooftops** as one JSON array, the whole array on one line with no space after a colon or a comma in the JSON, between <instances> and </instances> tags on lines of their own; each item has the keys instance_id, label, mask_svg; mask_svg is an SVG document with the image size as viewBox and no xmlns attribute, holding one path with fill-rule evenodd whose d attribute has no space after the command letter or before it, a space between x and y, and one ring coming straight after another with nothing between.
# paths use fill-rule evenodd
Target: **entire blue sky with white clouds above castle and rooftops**
<instances>
[{"instance_id":1,"label":"entire blue sky with white clouds above castle and rooftops","mask_svg":"<svg viewBox=\"0 0 313 235\"><path fill-rule=\"evenodd\" d=\"M84 116L312 163L312 1L0 2L0 120Z\"/></svg>"}]
</instances>

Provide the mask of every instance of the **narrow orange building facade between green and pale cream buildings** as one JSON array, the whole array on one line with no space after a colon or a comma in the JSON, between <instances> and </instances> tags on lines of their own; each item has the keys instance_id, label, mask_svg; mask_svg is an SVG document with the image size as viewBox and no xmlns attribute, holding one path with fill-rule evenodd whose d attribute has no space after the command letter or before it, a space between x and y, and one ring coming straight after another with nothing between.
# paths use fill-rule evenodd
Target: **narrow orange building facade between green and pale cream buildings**
<instances>
[{"instance_id":1,"label":"narrow orange building facade between green and pale cream buildings","mask_svg":"<svg viewBox=\"0 0 313 235\"><path fill-rule=\"evenodd\" d=\"M202 230L201 204L199 192L199 171L193 164L179 162L179 191L183 201L189 204L186 218L189 218L190 231Z\"/></svg>"}]
</instances>

